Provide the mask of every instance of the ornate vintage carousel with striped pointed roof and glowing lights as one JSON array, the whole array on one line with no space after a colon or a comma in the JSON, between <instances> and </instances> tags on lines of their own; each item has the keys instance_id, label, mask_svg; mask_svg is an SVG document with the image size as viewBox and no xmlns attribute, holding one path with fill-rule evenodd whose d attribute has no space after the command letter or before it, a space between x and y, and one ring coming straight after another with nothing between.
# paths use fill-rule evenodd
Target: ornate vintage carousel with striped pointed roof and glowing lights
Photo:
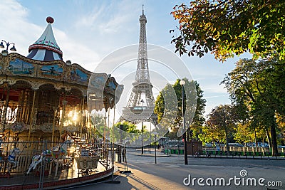
<instances>
[{"instance_id":1,"label":"ornate vintage carousel with striped pointed roof and glowing lights","mask_svg":"<svg viewBox=\"0 0 285 190\"><path fill-rule=\"evenodd\" d=\"M53 19L46 21L28 56L7 50L0 54L0 178L28 175L44 181L74 165L79 176L98 172L98 162L102 171L112 169L110 143L95 133L88 106L95 111L113 108L123 85L105 73L64 62L53 36ZM88 105L87 99L95 95L101 101Z\"/></svg>"}]
</instances>

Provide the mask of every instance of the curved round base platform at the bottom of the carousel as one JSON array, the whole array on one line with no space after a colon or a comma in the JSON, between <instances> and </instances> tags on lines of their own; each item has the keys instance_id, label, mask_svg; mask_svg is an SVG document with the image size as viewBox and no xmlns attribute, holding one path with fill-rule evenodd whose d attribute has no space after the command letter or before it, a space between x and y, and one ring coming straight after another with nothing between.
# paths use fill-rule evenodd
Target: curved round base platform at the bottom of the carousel
<instances>
[{"instance_id":1,"label":"curved round base platform at the bottom of the carousel","mask_svg":"<svg viewBox=\"0 0 285 190\"><path fill-rule=\"evenodd\" d=\"M18 190L18 189L61 189L68 186L76 186L78 184L86 184L94 181L103 181L112 175L112 167L105 167L98 162L97 169L82 172L77 169L76 164L73 167L58 171L57 176L48 176L45 171L43 182L38 171L32 172L25 176L24 174L13 173L9 178L0 179L0 190ZM118 167L114 167L114 172L118 171Z\"/></svg>"}]
</instances>

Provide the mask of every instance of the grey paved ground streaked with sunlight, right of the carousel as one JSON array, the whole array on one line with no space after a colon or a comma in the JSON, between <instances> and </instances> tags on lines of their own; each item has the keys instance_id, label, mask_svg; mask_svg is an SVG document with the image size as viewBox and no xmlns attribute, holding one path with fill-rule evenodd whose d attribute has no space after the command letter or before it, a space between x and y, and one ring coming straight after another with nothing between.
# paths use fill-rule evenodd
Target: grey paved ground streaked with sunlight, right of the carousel
<instances>
[{"instance_id":1,"label":"grey paved ground streaked with sunlight, right of the carousel","mask_svg":"<svg viewBox=\"0 0 285 190\"><path fill-rule=\"evenodd\" d=\"M73 189L285 189L285 160L189 157L189 164L184 165L183 155L157 154L155 164L153 152L152 156L147 153L146 149L142 156L140 149L128 149L131 173L117 176L115 180L120 184L99 183ZM124 170L123 164L117 166ZM274 183L278 186L266 186Z\"/></svg>"}]
</instances>

